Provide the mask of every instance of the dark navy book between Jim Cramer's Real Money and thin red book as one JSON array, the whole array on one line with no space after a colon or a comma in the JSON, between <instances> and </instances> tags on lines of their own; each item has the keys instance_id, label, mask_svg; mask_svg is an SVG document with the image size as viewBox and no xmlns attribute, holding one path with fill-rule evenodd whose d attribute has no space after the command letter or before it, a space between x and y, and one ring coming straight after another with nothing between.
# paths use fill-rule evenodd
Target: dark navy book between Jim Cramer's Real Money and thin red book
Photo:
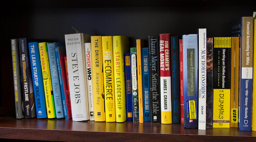
<instances>
[{"instance_id":1,"label":"dark navy book between Jim Cramer's Real Money and thin red book","mask_svg":"<svg viewBox=\"0 0 256 142\"><path fill-rule=\"evenodd\" d=\"M171 36L172 123L180 124L179 37Z\"/></svg>"}]
</instances>

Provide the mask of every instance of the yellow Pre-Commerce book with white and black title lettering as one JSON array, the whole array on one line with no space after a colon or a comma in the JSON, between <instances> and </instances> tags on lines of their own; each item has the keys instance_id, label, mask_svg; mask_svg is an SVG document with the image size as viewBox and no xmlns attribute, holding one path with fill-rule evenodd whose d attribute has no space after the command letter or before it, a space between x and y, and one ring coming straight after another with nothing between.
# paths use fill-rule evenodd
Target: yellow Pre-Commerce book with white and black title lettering
<instances>
[{"instance_id":1,"label":"yellow Pre-Commerce book with white and black title lettering","mask_svg":"<svg viewBox=\"0 0 256 142\"><path fill-rule=\"evenodd\" d=\"M106 122L116 121L112 36L102 37L102 60Z\"/></svg>"}]
</instances>

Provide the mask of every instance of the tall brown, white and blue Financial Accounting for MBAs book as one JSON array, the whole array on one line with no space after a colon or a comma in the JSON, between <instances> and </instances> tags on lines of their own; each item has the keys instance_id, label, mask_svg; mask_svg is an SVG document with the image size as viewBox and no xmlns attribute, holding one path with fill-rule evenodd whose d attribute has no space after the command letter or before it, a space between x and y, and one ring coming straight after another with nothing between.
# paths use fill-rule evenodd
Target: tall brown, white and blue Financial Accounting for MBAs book
<instances>
[{"instance_id":1,"label":"tall brown, white and blue Financial Accounting for MBAs book","mask_svg":"<svg viewBox=\"0 0 256 142\"><path fill-rule=\"evenodd\" d=\"M240 130L252 130L253 17L238 18L231 23L231 34L240 39L239 118Z\"/></svg>"}]
</instances>

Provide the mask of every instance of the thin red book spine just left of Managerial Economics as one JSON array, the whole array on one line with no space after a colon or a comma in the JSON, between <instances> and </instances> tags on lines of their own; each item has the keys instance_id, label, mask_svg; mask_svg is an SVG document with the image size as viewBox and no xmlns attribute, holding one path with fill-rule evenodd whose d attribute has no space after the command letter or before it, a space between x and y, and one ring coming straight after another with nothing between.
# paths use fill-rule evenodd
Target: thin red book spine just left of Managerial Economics
<instances>
[{"instance_id":1,"label":"thin red book spine just left of Managerial Economics","mask_svg":"<svg viewBox=\"0 0 256 142\"><path fill-rule=\"evenodd\" d=\"M179 60L180 60L180 124L184 124L184 101L183 101L183 44L179 39Z\"/></svg>"}]
</instances>

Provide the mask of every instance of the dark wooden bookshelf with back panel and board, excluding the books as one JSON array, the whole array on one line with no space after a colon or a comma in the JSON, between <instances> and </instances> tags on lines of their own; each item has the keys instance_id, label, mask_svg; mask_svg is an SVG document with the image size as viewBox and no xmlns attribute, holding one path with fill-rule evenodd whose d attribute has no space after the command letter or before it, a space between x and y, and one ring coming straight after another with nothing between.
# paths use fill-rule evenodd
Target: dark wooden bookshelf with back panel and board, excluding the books
<instances>
[{"instance_id":1,"label":"dark wooden bookshelf with back panel and board, excluding the books","mask_svg":"<svg viewBox=\"0 0 256 142\"><path fill-rule=\"evenodd\" d=\"M27 140L256 140L238 128L184 129L182 124L96 123L14 119L10 39L32 37L64 42L77 27L92 35L126 35L130 47L148 35L196 33L230 36L230 21L252 16L256 1L240 0L4 0L1 4L0 139ZM60 139L58 139L60 138Z\"/></svg>"}]
</instances>

